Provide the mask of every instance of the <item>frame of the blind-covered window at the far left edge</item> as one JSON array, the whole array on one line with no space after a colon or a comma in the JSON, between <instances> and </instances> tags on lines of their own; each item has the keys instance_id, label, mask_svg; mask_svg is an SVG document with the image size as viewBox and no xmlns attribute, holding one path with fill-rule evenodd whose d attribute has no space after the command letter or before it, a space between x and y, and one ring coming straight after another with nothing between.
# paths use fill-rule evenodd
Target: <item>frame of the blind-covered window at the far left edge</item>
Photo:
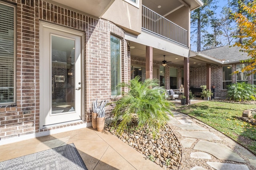
<instances>
[{"instance_id":1,"label":"frame of the blind-covered window at the far left edge","mask_svg":"<svg viewBox=\"0 0 256 170\"><path fill-rule=\"evenodd\" d=\"M14 37L13 37L13 102L6 102L6 103L0 103L0 106L7 106L10 104L16 104L16 41L17 41L17 33L16 33L16 5L14 4L9 4L9 3L5 3L5 2L0 2L0 4L5 5L5 6L9 6L13 8L13 22L14 22Z\"/></svg>"}]
</instances>

